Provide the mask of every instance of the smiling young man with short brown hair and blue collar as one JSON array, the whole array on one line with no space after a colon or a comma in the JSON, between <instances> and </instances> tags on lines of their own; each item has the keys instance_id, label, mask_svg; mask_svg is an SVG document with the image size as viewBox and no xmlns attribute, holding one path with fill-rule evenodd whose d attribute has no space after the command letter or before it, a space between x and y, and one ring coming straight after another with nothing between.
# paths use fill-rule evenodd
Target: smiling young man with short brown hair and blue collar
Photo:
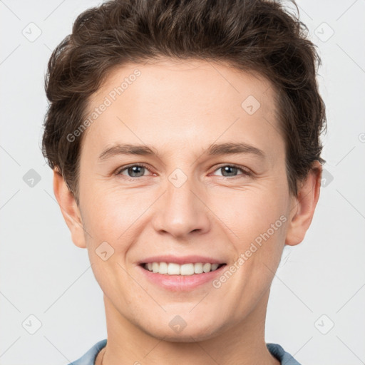
<instances>
[{"instance_id":1,"label":"smiling young man with short brown hair and blue collar","mask_svg":"<svg viewBox=\"0 0 365 365\"><path fill-rule=\"evenodd\" d=\"M108 340L73 364L299 364L264 323L319 199L317 61L272 1L78 16L48 63L43 153Z\"/></svg>"}]
</instances>

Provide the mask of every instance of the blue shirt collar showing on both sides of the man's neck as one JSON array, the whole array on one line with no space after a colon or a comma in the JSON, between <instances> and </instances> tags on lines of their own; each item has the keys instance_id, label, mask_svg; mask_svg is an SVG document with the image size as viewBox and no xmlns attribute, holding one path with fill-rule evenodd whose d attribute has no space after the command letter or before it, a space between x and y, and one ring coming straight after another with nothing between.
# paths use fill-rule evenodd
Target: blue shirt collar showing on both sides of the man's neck
<instances>
[{"instance_id":1,"label":"blue shirt collar showing on both sides of the man's neck","mask_svg":"<svg viewBox=\"0 0 365 365\"><path fill-rule=\"evenodd\" d=\"M90 350L86 352L80 359L73 361L68 365L94 365L98 353L106 346L106 339L98 341ZM269 353L280 361L282 365L300 365L297 360L288 354L279 344L266 344Z\"/></svg>"}]
</instances>

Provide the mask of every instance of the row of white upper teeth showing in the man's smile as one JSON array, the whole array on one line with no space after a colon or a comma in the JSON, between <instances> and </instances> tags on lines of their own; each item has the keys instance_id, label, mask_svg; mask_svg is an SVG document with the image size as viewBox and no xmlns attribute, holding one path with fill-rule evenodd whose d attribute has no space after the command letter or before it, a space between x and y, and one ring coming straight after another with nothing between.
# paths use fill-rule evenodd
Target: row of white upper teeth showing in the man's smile
<instances>
[{"instance_id":1,"label":"row of white upper teeth showing in the man's smile","mask_svg":"<svg viewBox=\"0 0 365 365\"><path fill-rule=\"evenodd\" d=\"M168 275L192 275L202 274L203 272L215 271L219 264L197 262L195 264L175 264L174 262L148 262L145 269L158 274Z\"/></svg>"}]
</instances>

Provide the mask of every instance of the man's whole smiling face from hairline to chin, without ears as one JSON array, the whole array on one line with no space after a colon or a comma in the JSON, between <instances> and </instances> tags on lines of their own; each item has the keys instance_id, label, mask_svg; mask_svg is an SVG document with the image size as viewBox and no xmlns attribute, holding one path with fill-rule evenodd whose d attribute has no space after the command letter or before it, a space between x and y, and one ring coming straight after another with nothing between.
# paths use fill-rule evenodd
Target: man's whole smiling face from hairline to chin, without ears
<instances>
[{"instance_id":1,"label":"man's whole smiling face from hairline to chin, without ears","mask_svg":"<svg viewBox=\"0 0 365 365\"><path fill-rule=\"evenodd\" d=\"M161 60L113 71L89 106L74 242L108 310L170 341L245 321L269 290L295 202L270 83Z\"/></svg>"}]
</instances>

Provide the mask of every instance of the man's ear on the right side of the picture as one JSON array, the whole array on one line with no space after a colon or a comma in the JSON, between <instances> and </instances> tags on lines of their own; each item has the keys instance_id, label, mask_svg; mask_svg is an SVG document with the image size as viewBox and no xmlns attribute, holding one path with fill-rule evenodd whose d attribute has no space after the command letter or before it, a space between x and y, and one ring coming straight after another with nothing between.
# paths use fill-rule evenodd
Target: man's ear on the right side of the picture
<instances>
[{"instance_id":1,"label":"man's ear on the right side of the picture","mask_svg":"<svg viewBox=\"0 0 365 365\"><path fill-rule=\"evenodd\" d=\"M304 240L319 199L321 178L322 165L314 161L307 178L300 185L297 197L292 199L285 245L295 246Z\"/></svg>"}]
</instances>

